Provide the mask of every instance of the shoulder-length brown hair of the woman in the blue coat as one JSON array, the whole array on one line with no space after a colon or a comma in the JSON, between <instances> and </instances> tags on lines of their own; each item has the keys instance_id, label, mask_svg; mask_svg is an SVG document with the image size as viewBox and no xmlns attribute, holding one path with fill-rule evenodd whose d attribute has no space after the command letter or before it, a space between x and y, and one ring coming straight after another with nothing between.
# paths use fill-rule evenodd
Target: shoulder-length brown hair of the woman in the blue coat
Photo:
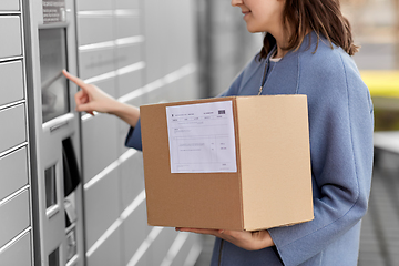
<instances>
[{"instance_id":1,"label":"shoulder-length brown hair of the woman in the blue coat","mask_svg":"<svg viewBox=\"0 0 399 266\"><path fill-rule=\"evenodd\" d=\"M331 49L334 43L349 55L359 50L354 44L351 28L340 11L339 0L285 0L283 23L290 34L284 50L299 49L309 30L317 34L317 45L321 34L330 42ZM275 44L274 37L266 33L259 58L266 58Z\"/></svg>"}]
</instances>

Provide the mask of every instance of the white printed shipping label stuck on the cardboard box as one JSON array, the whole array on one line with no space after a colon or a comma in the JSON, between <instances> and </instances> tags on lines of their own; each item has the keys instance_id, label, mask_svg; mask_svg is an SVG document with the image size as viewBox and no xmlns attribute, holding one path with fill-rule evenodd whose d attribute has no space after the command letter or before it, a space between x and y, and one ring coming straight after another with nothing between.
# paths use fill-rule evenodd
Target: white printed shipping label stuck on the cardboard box
<instances>
[{"instance_id":1,"label":"white printed shipping label stuck on the cardboard box","mask_svg":"<svg viewBox=\"0 0 399 266\"><path fill-rule=\"evenodd\" d=\"M232 101L167 106L171 173L237 172Z\"/></svg>"}]
</instances>

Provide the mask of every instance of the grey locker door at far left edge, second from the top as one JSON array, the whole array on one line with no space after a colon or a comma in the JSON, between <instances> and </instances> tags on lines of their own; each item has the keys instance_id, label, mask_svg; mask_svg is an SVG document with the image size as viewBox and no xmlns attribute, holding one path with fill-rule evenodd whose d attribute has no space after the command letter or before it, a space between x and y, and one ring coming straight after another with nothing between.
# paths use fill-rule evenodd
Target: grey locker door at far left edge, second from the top
<instances>
[{"instance_id":1,"label":"grey locker door at far left edge, second from the top","mask_svg":"<svg viewBox=\"0 0 399 266\"><path fill-rule=\"evenodd\" d=\"M21 21L19 17L0 17L0 58L22 54Z\"/></svg>"}]
</instances>

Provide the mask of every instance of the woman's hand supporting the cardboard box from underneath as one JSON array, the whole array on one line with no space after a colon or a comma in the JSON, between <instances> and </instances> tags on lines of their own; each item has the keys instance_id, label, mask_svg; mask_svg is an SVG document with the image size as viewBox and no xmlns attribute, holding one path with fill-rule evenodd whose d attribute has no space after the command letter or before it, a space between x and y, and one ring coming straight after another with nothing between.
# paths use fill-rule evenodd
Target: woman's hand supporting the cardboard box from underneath
<instances>
[{"instance_id":1,"label":"woman's hand supporting the cardboard box from underneath","mask_svg":"<svg viewBox=\"0 0 399 266\"><path fill-rule=\"evenodd\" d=\"M176 231L214 235L247 250L258 250L265 247L274 246L273 239L268 231L242 232L178 227L176 227Z\"/></svg>"}]
</instances>

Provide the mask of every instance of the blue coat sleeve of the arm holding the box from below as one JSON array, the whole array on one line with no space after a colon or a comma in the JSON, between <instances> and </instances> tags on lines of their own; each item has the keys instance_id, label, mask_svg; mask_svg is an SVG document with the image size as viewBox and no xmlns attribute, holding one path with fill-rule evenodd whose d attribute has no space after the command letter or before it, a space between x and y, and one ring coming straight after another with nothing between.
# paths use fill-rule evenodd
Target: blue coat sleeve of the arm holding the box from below
<instances>
[{"instance_id":1,"label":"blue coat sleeve of the arm holding the box from below","mask_svg":"<svg viewBox=\"0 0 399 266\"><path fill-rule=\"evenodd\" d=\"M324 66L307 62L300 72L298 92L308 95L309 105L315 219L268 229L285 266L323 252L367 211L372 104L356 65L337 58Z\"/></svg>"}]
</instances>

